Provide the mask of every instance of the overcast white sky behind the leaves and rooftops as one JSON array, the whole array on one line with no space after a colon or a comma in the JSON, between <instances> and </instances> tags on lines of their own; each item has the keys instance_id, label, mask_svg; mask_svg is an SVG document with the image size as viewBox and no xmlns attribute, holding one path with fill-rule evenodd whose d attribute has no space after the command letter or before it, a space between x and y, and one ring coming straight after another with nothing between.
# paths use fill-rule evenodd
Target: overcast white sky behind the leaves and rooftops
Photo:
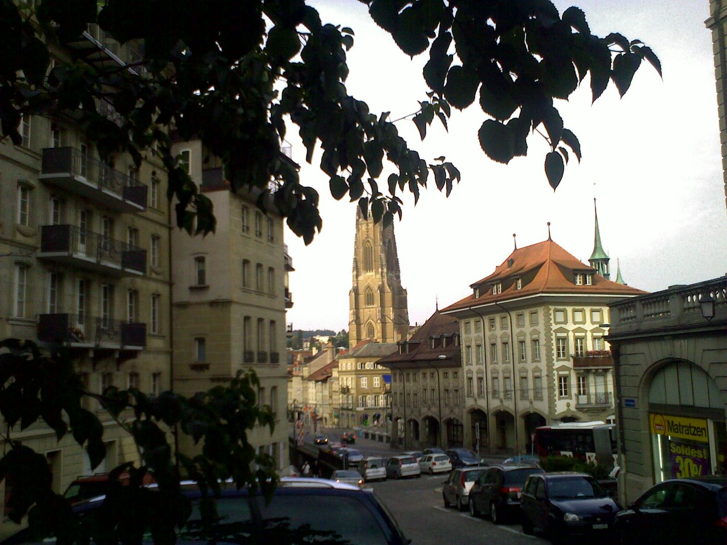
<instances>
[{"instance_id":1,"label":"overcast white sky behind the leaves and rooftops","mask_svg":"<svg viewBox=\"0 0 727 545\"><path fill-rule=\"evenodd\" d=\"M563 12L581 7L591 31L617 31L640 39L662 62L662 81L643 65L619 99L613 84L590 104L586 81L558 108L581 142L583 160L566 166L558 190L547 184L545 142L529 140L526 158L510 165L490 161L477 130L486 118L477 102L453 111L449 134L435 126L421 142L414 124L399 121L400 134L427 159L446 156L462 173L449 198L435 185L419 203L405 199L395 235L401 281L409 294L409 320L422 323L435 309L469 293L513 250L547 238L587 262L593 250L593 197L603 246L624 280L647 291L694 283L727 273L727 211L723 193L720 136L711 33L704 27L708 0L555 0ZM399 118L425 98L421 70L428 56L404 55L371 22L356 0L315 1L324 23L350 26L356 42L348 55L349 94L374 113ZM305 148L291 126L293 158L302 181L321 193L323 231L310 246L286 231L295 272L290 274L294 307L287 322L296 329L348 329L355 204L334 201L326 175L305 163ZM571 156L572 158L572 156ZM385 179L385 177L384 177Z\"/></svg>"}]
</instances>

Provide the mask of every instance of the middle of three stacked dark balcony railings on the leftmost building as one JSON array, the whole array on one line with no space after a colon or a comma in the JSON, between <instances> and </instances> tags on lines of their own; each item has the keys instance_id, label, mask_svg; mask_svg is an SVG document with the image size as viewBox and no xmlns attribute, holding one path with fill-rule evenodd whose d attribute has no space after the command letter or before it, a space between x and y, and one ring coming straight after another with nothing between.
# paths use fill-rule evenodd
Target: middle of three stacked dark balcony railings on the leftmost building
<instances>
[{"instance_id":1,"label":"middle of three stacked dark balcony railings on the leftmost building","mask_svg":"<svg viewBox=\"0 0 727 545\"><path fill-rule=\"evenodd\" d=\"M100 273L146 273L146 250L75 225L43 225L38 257Z\"/></svg>"}]
</instances>

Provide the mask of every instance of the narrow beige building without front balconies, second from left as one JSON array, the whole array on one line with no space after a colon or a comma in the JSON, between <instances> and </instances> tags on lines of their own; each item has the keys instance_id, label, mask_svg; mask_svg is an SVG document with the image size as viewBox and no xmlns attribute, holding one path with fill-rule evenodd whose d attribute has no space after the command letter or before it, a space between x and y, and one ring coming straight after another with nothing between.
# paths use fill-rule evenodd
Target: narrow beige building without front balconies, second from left
<instances>
[{"instance_id":1,"label":"narrow beige building without front balconies, second from left","mask_svg":"<svg viewBox=\"0 0 727 545\"><path fill-rule=\"evenodd\" d=\"M285 312L292 304L283 219L272 199L266 212L257 207L260 190L233 192L222 164L199 140L177 142L174 153L217 219L215 232L204 237L172 232L174 389L193 395L253 369L258 403L270 405L277 424L272 434L254 428L248 439L282 469L288 464ZM180 448L194 451L186 438Z\"/></svg>"}]
</instances>

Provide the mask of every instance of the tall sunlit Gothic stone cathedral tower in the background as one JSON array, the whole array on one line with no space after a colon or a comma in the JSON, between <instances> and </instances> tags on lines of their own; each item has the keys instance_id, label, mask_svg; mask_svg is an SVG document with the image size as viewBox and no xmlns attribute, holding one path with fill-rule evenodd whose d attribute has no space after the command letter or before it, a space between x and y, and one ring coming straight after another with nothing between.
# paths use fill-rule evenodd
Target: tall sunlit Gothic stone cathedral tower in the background
<instances>
[{"instance_id":1,"label":"tall sunlit Gothic stone cathedral tower in the background","mask_svg":"<svg viewBox=\"0 0 727 545\"><path fill-rule=\"evenodd\" d=\"M364 219L356 208L353 287L349 292L348 344L397 342L409 331L406 290L401 287L394 227Z\"/></svg>"}]
</instances>

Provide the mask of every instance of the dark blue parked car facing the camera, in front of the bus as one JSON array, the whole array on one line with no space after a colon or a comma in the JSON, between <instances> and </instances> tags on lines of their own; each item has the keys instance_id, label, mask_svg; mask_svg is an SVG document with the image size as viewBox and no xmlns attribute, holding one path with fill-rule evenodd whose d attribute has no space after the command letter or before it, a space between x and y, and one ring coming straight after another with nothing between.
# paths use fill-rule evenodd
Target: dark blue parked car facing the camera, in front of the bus
<instances>
[{"instance_id":1,"label":"dark blue parked car facing the camera, in front of the bus","mask_svg":"<svg viewBox=\"0 0 727 545\"><path fill-rule=\"evenodd\" d=\"M523 533L541 530L558 543L574 537L610 541L621 509L593 477L575 472L531 475L520 504Z\"/></svg>"}]
</instances>

